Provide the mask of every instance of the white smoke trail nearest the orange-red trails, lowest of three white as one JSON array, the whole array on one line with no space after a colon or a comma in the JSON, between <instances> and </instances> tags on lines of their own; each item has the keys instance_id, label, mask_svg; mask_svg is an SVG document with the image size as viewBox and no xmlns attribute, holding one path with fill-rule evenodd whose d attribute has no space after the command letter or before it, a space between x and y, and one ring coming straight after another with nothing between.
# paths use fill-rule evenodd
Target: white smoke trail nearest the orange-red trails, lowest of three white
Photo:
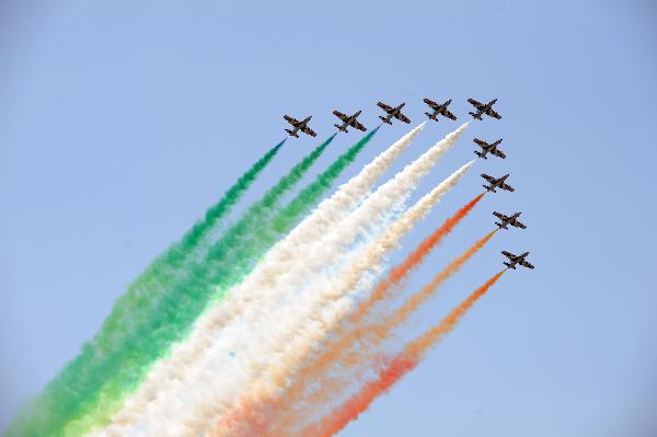
<instances>
[{"instance_id":1,"label":"white smoke trail nearest the orange-red trails, lowest of three white","mask_svg":"<svg viewBox=\"0 0 657 437\"><path fill-rule=\"evenodd\" d=\"M348 292L357 286L361 276L376 267L390 250L396 248L401 238L418 220L426 217L431 207L457 184L472 163L473 161L463 165L425 195L385 229L381 237L369 242L362 251L353 253L342 271L333 278L306 290L295 300L292 308L288 311L284 310L284 313L278 317L273 317L278 322L269 324L262 342L252 342L255 343L252 347L255 350L244 354L244 358L240 361L243 372L251 372L257 378L249 386L249 390L242 393L237 406L227 415L229 418L218 423L215 435L233 435L234 430L231 427L239 427L240 423L230 418L239 417L239 412L244 409L244 405L262 402L285 390L288 377L296 372L312 347L323 341L351 311L354 301ZM272 355L276 358L273 359ZM231 406L233 398L231 393L224 398L228 402L220 401L219 411Z\"/></svg>"}]
</instances>

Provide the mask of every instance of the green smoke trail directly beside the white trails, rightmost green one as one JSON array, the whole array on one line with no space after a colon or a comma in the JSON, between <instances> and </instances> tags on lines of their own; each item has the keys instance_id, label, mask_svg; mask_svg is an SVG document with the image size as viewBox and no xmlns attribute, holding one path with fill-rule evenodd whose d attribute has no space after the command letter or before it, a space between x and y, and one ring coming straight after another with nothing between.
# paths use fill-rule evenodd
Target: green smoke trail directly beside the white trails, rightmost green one
<instances>
[{"instance_id":1,"label":"green smoke trail directly beside the white trails, rightmost green one","mask_svg":"<svg viewBox=\"0 0 657 437\"><path fill-rule=\"evenodd\" d=\"M217 242L205 264L196 266L189 281L175 296L162 300L154 319L139 330L125 354L112 363L117 370L106 380L102 392L87 401L66 427L66 435L78 436L106 425L125 396L136 390L150 366L169 352L172 343L188 334L193 322L217 296L222 297L231 286L251 272L255 262L276 243L328 189L337 176L356 159L376 130L365 136L343 153L326 171L302 189L280 212L272 217L269 202L253 205L247 214ZM267 197L267 196L265 196ZM274 230L274 222L279 229Z\"/></svg>"}]
</instances>

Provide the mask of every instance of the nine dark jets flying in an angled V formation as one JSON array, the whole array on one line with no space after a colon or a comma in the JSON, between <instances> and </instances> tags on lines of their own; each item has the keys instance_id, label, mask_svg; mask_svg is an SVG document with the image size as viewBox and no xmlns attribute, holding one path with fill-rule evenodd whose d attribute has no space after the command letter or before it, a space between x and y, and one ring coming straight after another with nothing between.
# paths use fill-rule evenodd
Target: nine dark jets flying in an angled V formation
<instances>
[{"instance_id":1,"label":"nine dark jets flying in an angled V formation","mask_svg":"<svg viewBox=\"0 0 657 437\"><path fill-rule=\"evenodd\" d=\"M437 103L428 97L425 97L423 99L423 102L430 108L430 112L425 112L425 115L429 117L429 119L438 122L439 116L452 120L457 119L457 116L453 113L451 113L448 108L452 102L451 99L442 103ZM493 99L487 103L482 103L474 99L468 99L468 103L470 103L474 107L474 111L468 113L472 116L473 119L483 120L484 115L495 119L502 118L502 115L499 115L499 113L493 108L493 105L497 103L497 99ZM411 118L408 118L402 112L405 105L405 102L402 102L396 106L390 106L383 102L377 102L377 106L379 106L385 113L384 116L380 115L379 118L382 123L385 123L388 125L392 125L393 119L397 119L400 122L408 124L411 123ZM365 127L365 125L358 122L358 116L361 113L362 111L357 111L353 115L346 115L337 110L333 111L333 115L335 115L341 120L339 124L335 124L334 126L337 128L338 131L343 133L348 133L347 129L349 127L361 131L367 131L367 127ZM300 131L306 135L310 135L311 137L316 136L315 131L312 130L310 126L308 126L309 122L312 119L312 116L309 115L302 120L298 120L289 115L285 115L284 118L292 126L292 129L285 129L285 131L288 133L290 137L299 138ZM506 158L506 154L499 149L499 145L503 141L502 138L493 142L487 142L479 138L474 138L473 141L479 148L481 148L481 151L476 150L474 152L474 154L476 154L477 157L482 159L488 159L488 154L491 154L500 159ZM506 182L509 177L509 174L505 174L500 177L494 177L489 174L484 173L481 176L487 182L487 184L483 185L486 192L497 193L497 189L507 192L515 191L515 188ZM495 223L499 229L509 229L509 226L519 229L527 228L527 226L525 226L522 222L520 222L520 220L518 220L518 217L520 217L521 212L515 212L510 216L506 216L502 212L494 211L493 215L499 219L499 221ZM534 266L531 263L526 261L526 257L529 255L529 252L523 252L520 255L515 255L511 252L503 251L502 254L508 258L508 262L503 263L507 266L507 268L516 269L518 265L527 268L534 268Z\"/></svg>"}]
</instances>

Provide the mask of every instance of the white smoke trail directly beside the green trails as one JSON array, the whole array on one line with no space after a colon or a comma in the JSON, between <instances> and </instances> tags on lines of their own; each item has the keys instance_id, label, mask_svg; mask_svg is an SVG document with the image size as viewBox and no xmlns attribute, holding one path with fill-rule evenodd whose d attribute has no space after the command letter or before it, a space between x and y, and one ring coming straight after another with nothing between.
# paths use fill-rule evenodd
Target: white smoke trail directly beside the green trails
<instances>
[{"instance_id":1,"label":"white smoke trail directly beside the green trails","mask_svg":"<svg viewBox=\"0 0 657 437\"><path fill-rule=\"evenodd\" d=\"M252 306L258 304L256 299L260 295L249 296L247 290L260 290L270 285L277 278L273 266L280 266L286 262L295 262L298 258L300 246L316 242L325 233L326 227L330 223L339 221L342 217L365 197L377 179L388 170L394 159L422 131L424 125L423 123L417 126L379 154L358 175L343 184L333 196L322 202L309 217L297 226L284 240L279 241L257 265L255 271L227 296L221 306L214 307L199 319L189 340L176 346L171 358L162 359L155 365L147 381L139 388L138 393L129 399L122 412L113 418L113 426L107 428L107 432L126 435L130 426L143 429L143 414L151 406L150 404L162 400L162 402L170 405L172 396L163 396L162 393L169 393L172 389L163 390L162 388L181 384L177 381L184 376L189 375L192 364L199 361L199 357L207 355L209 346L216 343L216 337L211 335L211 332L221 329L231 318L240 315L237 311L242 308L243 302L251 302ZM333 172L330 172L330 174L333 174ZM322 181L324 180L319 180L319 182ZM316 185L318 188L325 186L325 184ZM289 209L295 210L295 205L292 202ZM280 220L277 220L277 222L280 223ZM159 411L159 407L153 407L153 410Z\"/></svg>"}]
</instances>

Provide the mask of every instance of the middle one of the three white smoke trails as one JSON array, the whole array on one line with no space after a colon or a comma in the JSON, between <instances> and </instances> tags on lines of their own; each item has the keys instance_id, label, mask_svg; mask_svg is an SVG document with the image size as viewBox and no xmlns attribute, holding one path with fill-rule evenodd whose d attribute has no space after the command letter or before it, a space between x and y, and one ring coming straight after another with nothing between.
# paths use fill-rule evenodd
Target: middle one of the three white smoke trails
<instances>
[{"instance_id":1,"label":"middle one of the three white smoke trails","mask_svg":"<svg viewBox=\"0 0 657 437\"><path fill-rule=\"evenodd\" d=\"M464 131L466 125L461 126L454 133L449 134L443 140L437 142L420 158L397 173L394 179L383 184L376 193L369 196L365 203L339 225L323 228L324 238L319 241L309 242L304 245L295 246L292 263L278 263L273 265L272 275L278 278L276 286L263 289L257 287L238 287L240 296L246 299L249 306L237 311L242 314L241 323L230 325L215 344L211 352L203 360L197 360L193 370L187 369L184 383L173 395L163 398L161 407L164 410L152 411L151 414L162 417L168 414L176 414L176 421L188 424L192 435L198 435L199 427L207 426L207 414L200 414L201 410L217 409L217 402L208 400L220 399L227 386L233 387L232 382L239 378L230 377L227 366L231 367L233 361L226 358L231 350L244 347L246 342L252 342L267 324L273 323L269 313L280 307L281 302L290 298L290 294L303 284L314 284L328 280L331 272L322 272L323 266L341 260L346 253L353 251L349 244L358 234L368 232L372 223L385 220L387 212L400 203L403 203L412 189L417 185L422 176L426 175L436 164L438 159L447 151L459 136ZM360 275L359 275L360 277ZM306 290L303 295L310 294ZM252 296L252 298L249 298ZM296 306L296 300L292 300ZM264 332L264 331L263 331ZM235 369L239 370L239 369ZM221 375L221 378L218 376ZM224 379L231 379L227 384ZM234 386L232 390L239 391ZM171 398L184 399L183 410L174 410L170 402ZM207 406L206 406L207 405ZM157 429L157 435L164 435L166 426Z\"/></svg>"}]
</instances>

